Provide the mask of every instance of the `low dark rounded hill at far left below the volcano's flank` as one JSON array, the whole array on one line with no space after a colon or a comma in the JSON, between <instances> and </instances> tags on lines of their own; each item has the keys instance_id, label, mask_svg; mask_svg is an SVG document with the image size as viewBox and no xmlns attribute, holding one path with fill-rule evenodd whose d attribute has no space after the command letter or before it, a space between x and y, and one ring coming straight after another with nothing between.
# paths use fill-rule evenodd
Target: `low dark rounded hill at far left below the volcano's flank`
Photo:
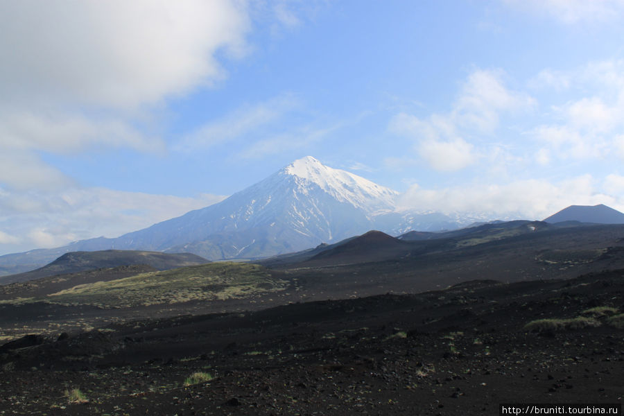
<instances>
[{"instance_id":1,"label":"low dark rounded hill at far left below the volcano's flank","mask_svg":"<svg viewBox=\"0 0 624 416\"><path fill-rule=\"evenodd\" d=\"M119 266L147 265L156 270L193 266L209 263L207 259L191 253L167 254L161 252L146 252L137 250L101 250L94 252L69 252L58 257L55 261L32 270L0 277L0 284L15 283L64 275L68 273L84 272L98 268L115 268Z\"/></svg>"}]
</instances>

